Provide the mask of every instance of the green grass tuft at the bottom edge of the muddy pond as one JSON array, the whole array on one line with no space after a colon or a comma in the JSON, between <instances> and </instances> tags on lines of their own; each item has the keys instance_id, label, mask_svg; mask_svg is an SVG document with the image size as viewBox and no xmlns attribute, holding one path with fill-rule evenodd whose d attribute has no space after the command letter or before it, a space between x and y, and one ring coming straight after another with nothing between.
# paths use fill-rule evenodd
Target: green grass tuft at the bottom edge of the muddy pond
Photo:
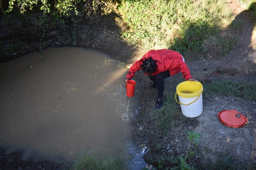
<instances>
[{"instance_id":1,"label":"green grass tuft at the bottom edge of the muddy pond","mask_svg":"<svg viewBox=\"0 0 256 170\"><path fill-rule=\"evenodd\" d=\"M99 155L96 151L77 157L70 170L119 170L125 169L123 162L112 155Z\"/></svg>"}]
</instances>

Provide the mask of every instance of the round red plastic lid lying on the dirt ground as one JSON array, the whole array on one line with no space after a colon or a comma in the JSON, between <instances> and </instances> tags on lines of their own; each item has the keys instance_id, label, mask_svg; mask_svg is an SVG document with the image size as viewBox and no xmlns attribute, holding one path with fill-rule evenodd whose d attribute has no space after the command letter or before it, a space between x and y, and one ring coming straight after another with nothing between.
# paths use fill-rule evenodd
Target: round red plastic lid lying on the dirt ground
<instances>
[{"instance_id":1,"label":"round red plastic lid lying on the dirt ground","mask_svg":"<svg viewBox=\"0 0 256 170\"><path fill-rule=\"evenodd\" d=\"M219 120L232 128L240 128L246 124L247 118L236 110L224 110L218 113Z\"/></svg>"}]
</instances>

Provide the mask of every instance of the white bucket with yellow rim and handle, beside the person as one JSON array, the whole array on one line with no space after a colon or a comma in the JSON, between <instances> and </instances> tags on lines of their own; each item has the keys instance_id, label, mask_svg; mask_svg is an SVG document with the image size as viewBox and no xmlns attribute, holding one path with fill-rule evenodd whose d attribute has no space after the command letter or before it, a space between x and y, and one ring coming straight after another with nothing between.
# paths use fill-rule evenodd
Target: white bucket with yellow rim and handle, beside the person
<instances>
[{"instance_id":1,"label":"white bucket with yellow rim and handle, beside the person","mask_svg":"<svg viewBox=\"0 0 256 170\"><path fill-rule=\"evenodd\" d=\"M179 96L181 112L186 117L197 117L203 113L203 85L200 82L185 81L177 85L175 99Z\"/></svg>"}]
</instances>

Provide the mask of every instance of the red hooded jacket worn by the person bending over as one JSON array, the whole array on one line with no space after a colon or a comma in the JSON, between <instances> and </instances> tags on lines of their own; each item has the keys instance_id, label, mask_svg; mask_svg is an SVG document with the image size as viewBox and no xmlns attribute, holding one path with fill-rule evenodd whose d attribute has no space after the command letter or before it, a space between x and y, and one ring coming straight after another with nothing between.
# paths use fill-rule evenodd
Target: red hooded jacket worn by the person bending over
<instances>
[{"instance_id":1,"label":"red hooded jacket worn by the person bending over","mask_svg":"<svg viewBox=\"0 0 256 170\"><path fill-rule=\"evenodd\" d=\"M156 71L150 75L156 75L158 73L169 70L170 75L177 74L181 71L183 77L186 80L192 78L186 63L183 61L182 55L176 51L167 49L148 51L140 60L133 63L133 65L129 69L126 78L131 80L134 77L135 72L142 69L142 67L140 66L143 64L142 61L145 60L145 58L147 59L149 57L152 57L154 61L157 61Z\"/></svg>"}]
</instances>

